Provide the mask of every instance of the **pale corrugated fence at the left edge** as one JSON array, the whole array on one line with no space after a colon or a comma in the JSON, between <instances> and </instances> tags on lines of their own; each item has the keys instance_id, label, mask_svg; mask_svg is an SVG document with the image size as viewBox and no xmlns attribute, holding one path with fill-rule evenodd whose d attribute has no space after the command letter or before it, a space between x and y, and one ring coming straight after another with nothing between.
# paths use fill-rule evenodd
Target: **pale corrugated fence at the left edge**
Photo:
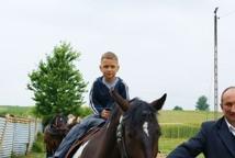
<instances>
[{"instance_id":1,"label":"pale corrugated fence at the left edge","mask_svg":"<svg viewBox=\"0 0 235 158\"><path fill-rule=\"evenodd\" d=\"M42 123L35 119L0 117L0 158L25 155L42 131Z\"/></svg>"}]
</instances>

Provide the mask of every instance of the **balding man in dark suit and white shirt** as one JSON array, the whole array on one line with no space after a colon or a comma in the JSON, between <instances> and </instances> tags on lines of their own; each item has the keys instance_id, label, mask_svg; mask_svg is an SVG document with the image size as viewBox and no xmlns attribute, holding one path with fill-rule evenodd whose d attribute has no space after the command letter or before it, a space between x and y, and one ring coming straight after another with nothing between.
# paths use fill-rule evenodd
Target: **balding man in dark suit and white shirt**
<instances>
[{"instance_id":1,"label":"balding man in dark suit and white shirt","mask_svg":"<svg viewBox=\"0 0 235 158\"><path fill-rule=\"evenodd\" d=\"M179 145L167 158L235 158L235 87L226 88L221 95L223 116L216 122L202 123L200 132Z\"/></svg>"}]
</instances>

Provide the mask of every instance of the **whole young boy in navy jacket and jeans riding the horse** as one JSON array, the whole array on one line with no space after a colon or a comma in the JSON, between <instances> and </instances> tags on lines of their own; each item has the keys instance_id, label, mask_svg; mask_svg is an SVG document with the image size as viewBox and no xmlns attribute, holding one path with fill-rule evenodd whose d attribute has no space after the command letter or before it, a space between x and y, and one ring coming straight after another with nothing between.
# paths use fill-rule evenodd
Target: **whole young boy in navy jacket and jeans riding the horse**
<instances>
[{"instance_id":1,"label":"whole young boy in navy jacket and jeans riding the horse","mask_svg":"<svg viewBox=\"0 0 235 158\"><path fill-rule=\"evenodd\" d=\"M128 100L127 86L121 78L116 77L119 67L119 59L114 53L108 52L102 55L100 64L102 76L97 78L90 90L90 106L94 114L83 119L80 124L75 125L69 131L54 154L55 158L64 158L77 139L90 128L105 123L114 105L114 101L110 95L111 89L115 89L124 99Z\"/></svg>"}]
</instances>

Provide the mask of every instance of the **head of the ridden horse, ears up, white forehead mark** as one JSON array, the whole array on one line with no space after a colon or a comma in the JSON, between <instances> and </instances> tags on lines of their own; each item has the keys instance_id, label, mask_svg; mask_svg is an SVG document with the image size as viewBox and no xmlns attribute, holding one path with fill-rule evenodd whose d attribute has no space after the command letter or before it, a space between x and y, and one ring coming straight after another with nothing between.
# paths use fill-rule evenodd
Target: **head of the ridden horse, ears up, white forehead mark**
<instances>
[{"instance_id":1,"label":"head of the ridden horse, ears up, white forehead mark","mask_svg":"<svg viewBox=\"0 0 235 158\"><path fill-rule=\"evenodd\" d=\"M156 114L163 108L167 94L152 103L139 99L128 102L115 91L112 91L112 95L123 111L116 134L121 154L127 158L155 158L160 136Z\"/></svg>"}]
</instances>

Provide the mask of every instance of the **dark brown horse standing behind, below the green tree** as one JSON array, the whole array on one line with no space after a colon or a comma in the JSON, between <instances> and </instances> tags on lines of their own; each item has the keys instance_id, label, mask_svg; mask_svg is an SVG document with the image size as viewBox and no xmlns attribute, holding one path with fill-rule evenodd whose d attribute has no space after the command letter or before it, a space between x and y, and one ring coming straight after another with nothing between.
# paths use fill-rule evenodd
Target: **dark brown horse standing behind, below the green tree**
<instances>
[{"instance_id":1,"label":"dark brown horse standing behind, below the green tree","mask_svg":"<svg viewBox=\"0 0 235 158\"><path fill-rule=\"evenodd\" d=\"M57 114L44 129L44 143L46 145L46 155L52 157L63 138L68 133L67 117Z\"/></svg>"}]
</instances>

